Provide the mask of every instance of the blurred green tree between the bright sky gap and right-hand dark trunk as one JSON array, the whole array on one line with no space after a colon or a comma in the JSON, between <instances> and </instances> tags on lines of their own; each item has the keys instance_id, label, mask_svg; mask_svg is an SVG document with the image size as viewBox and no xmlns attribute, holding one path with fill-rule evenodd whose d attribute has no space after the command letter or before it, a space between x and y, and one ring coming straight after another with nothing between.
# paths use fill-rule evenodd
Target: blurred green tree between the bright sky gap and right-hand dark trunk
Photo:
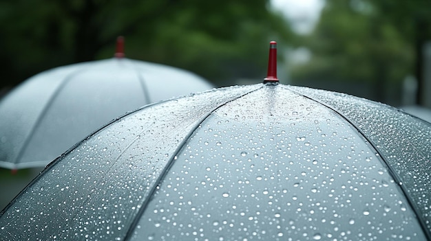
<instances>
[{"instance_id":1,"label":"blurred green tree between the bright sky gap and right-hand dark trunk","mask_svg":"<svg viewBox=\"0 0 431 241\"><path fill-rule=\"evenodd\" d=\"M402 82L415 73L419 54L411 16L425 18L421 12L430 9L419 2L424 1L327 0L315 31L304 37L311 61L293 69L293 80L401 104Z\"/></svg>"}]
</instances>

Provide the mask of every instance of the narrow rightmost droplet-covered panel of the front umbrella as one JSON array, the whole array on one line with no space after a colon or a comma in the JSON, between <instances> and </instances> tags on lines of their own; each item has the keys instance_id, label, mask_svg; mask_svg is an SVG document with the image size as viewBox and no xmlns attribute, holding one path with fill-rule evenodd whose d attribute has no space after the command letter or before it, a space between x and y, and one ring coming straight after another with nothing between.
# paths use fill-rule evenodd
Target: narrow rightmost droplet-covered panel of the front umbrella
<instances>
[{"instance_id":1,"label":"narrow rightmost droplet-covered panel of the front umbrella","mask_svg":"<svg viewBox=\"0 0 431 241\"><path fill-rule=\"evenodd\" d=\"M342 93L289 87L334 108L368 137L394 170L431 230L431 124L385 104Z\"/></svg>"}]
</instances>

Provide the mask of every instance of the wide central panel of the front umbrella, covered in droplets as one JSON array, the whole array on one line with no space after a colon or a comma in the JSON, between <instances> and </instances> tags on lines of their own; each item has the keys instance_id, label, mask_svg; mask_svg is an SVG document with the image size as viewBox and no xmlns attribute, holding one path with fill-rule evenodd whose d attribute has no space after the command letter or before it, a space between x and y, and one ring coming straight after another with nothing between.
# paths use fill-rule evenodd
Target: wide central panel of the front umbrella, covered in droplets
<instances>
[{"instance_id":1,"label":"wide central panel of the front umbrella, covered in droplets","mask_svg":"<svg viewBox=\"0 0 431 241\"><path fill-rule=\"evenodd\" d=\"M372 146L290 91L223 106L177 156L132 240L425 240Z\"/></svg>"}]
</instances>

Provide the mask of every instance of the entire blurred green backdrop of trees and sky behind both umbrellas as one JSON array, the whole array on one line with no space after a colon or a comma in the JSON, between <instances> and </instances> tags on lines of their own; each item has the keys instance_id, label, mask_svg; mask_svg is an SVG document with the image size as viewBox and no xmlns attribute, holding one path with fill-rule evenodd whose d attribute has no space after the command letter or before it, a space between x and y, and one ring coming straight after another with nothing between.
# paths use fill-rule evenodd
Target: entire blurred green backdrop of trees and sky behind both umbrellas
<instances>
[{"instance_id":1,"label":"entire blurred green backdrop of trees and sky behind both umbrellas","mask_svg":"<svg viewBox=\"0 0 431 241\"><path fill-rule=\"evenodd\" d=\"M275 40L284 84L431 108L429 0L3 0L0 33L0 97L41 71L111 58L124 36L127 58L218 87L262 82ZM0 169L0 209L39 172Z\"/></svg>"}]
</instances>

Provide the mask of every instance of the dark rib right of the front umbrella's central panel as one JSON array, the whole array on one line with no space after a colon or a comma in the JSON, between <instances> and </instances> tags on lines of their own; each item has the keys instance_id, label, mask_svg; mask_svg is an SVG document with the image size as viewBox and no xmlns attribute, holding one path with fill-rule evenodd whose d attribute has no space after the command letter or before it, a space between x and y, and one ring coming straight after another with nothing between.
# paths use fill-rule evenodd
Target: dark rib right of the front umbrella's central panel
<instances>
[{"instance_id":1,"label":"dark rib right of the front umbrella's central panel","mask_svg":"<svg viewBox=\"0 0 431 241\"><path fill-rule=\"evenodd\" d=\"M293 89L290 89L288 87L284 87L284 88L288 89L289 91L292 91L293 93L296 93L297 95L301 95L302 97L306 97L308 100L311 100L313 102L321 104L322 106L325 106L326 108L329 108L331 111L333 111L334 113L339 115L339 117L341 117L346 122L348 122L348 124L350 124L350 126L352 126L357 131L357 133L359 133L359 135L361 135L361 137L363 137L364 139L366 139L366 141L368 141L370 146L372 146L372 148L377 152L377 154L379 154L379 157L381 157L381 161L383 162L383 164L388 169L390 176L392 176L392 179L394 179L394 181L398 184L398 186L401 189L401 192L403 192L403 195L406 197L408 204L410 205L410 207L412 207L414 215L417 216L417 220L419 221L419 224L421 225L423 233L425 233L425 236L427 237L428 240L431 240L431 233L430 233L430 230L428 230L428 227L425 223L425 220L423 220L422 212L420 211L420 209L416 205L416 203L414 203L412 198L410 198L410 196L408 196L408 191L406 190L405 185L400 185L400 183L402 183L401 178L399 177L399 175L397 174L395 169L392 168L392 165L390 165L390 163L386 160L386 157L384 157L383 153L381 153L381 151L379 150L379 148L377 148L377 146L374 144L374 142L371 141L371 139L369 139L365 135L365 133L356 124L354 124L352 121L350 121L350 119L348 119L348 117L346 117L346 115L343 115L342 113L337 111L337 109L335 107L330 106L330 104L326 104L322 101L315 100L315 99L313 99L313 97L309 97L308 95L304 95L303 93L300 93L300 92L295 91Z\"/></svg>"}]
</instances>

